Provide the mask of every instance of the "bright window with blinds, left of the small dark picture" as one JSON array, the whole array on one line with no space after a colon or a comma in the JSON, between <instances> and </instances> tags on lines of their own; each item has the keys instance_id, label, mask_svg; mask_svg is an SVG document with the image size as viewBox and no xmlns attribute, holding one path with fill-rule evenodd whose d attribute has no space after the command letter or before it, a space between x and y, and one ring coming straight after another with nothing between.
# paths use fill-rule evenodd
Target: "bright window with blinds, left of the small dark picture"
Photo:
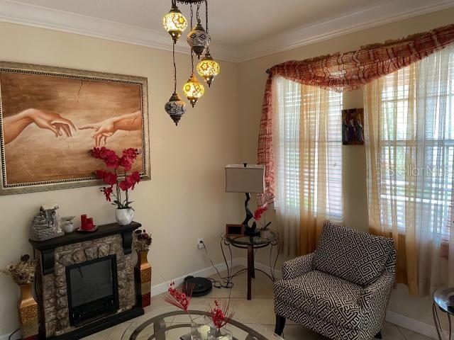
<instances>
[{"instance_id":1,"label":"bright window with blinds, left of the small dark picture","mask_svg":"<svg viewBox=\"0 0 454 340\"><path fill-rule=\"evenodd\" d=\"M342 94L283 78L275 88L278 202L341 221Z\"/></svg>"}]
</instances>

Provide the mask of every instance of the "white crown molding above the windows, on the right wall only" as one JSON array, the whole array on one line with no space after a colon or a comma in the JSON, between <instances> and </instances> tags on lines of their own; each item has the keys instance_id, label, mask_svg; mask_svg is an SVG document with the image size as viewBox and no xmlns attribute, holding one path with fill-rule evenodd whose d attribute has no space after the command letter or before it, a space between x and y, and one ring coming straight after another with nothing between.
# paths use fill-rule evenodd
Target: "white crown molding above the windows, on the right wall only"
<instances>
[{"instance_id":1,"label":"white crown molding above the windows, on the right wall only","mask_svg":"<svg viewBox=\"0 0 454 340\"><path fill-rule=\"evenodd\" d=\"M313 44L322 40L365 30L386 23L420 16L454 7L453 0L388 0L375 6L344 13L336 18L301 26L294 30L272 35L270 38L240 47L237 62L246 62L277 52ZM397 36L397 38L399 38Z\"/></svg>"}]
</instances>

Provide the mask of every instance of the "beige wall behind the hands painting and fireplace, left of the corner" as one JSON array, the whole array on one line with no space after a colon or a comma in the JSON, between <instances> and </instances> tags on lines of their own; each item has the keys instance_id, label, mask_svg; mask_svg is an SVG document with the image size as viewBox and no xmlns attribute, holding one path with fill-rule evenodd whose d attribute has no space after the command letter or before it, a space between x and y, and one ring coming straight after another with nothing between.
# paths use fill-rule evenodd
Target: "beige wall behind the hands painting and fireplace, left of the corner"
<instances>
[{"instance_id":1,"label":"beige wall behind the hands painting and fireplace, left of the corner","mask_svg":"<svg viewBox=\"0 0 454 340\"><path fill-rule=\"evenodd\" d=\"M170 39L170 38L169 38ZM181 42L184 43L184 42ZM209 266L196 239L204 237L214 263L221 263L218 235L240 217L239 196L226 194L223 166L239 160L238 65L222 62L222 73L176 128L164 111L172 94L171 52L0 23L0 60L148 77L152 180L131 194L135 220L153 233L149 255L153 285ZM189 77L189 55L177 55L179 84ZM181 91L180 91L181 94ZM229 96L225 96L229 94ZM52 157L36 150L42 157ZM64 162L55 159L55 162ZM114 221L114 210L96 187L0 197L0 268L31 251L28 225L43 203L60 215ZM17 326L18 288L0 274L0 335Z\"/></svg>"}]
</instances>

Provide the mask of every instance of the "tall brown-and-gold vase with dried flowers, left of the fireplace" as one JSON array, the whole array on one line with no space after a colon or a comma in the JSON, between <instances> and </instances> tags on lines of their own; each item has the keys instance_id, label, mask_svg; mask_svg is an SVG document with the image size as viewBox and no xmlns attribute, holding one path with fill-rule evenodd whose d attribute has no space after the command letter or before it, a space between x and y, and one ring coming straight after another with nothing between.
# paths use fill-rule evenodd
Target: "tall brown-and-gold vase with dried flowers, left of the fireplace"
<instances>
[{"instance_id":1,"label":"tall brown-and-gold vase with dried flowers, left of the fireplace","mask_svg":"<svg viewBox=\"0 0 454 340\"><path fill-rule=\"evenodd\" d=\"M21 256L21 261L11 263L6 271L21 288L21 297L18 302L19 322L21 323L22 339L38 340L38 303L36 303L32 291L32 283L35 278L36 261L30 261L30 255Z\"/></svg>"}]
</instances>

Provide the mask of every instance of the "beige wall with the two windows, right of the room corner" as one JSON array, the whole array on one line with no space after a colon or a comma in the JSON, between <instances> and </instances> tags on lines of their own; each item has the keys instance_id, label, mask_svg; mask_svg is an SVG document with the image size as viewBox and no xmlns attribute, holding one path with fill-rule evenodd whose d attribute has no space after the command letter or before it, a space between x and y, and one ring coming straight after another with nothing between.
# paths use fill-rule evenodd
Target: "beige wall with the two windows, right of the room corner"
<instances>
[{"instance_id":1,"label":"beige wall with the two windows, right of the room corner","mask_svg":"<svg viewBox=\"0 0 454 340\"><path fill-rule=\"evenodd\" d=\"M343 35L323 42L300 47L295 50L280 52L275 55L240 63L240 115L244 121L240 125L243 162L257 161L258 128L260 123L263 93L267 74L265 70L275 64L287 60L304 60L309 57L326 55L334 52L357 50L361 45L373 42L384 42L387 39L402 38L411 33L430 30L438 26L453 23L454 8L410 18L384 26L362 30L357 33ZM362 91L352 91L344 94L344 108L362 107ZM367 231L367 192L366 192L366 163L365 147L343 147L343 193L345 225ZM273 211L267 218L275 221ZM275 224L275 222L274 222ZM269 263L262 251L258 261ZM281 259L282 260L282 259ZM278 265L279 266L279 265ZM406 287L399 285L394 290L389 309L433 324L431 319L431 299L409 297Z\"/></svg>"}]
</instances>

